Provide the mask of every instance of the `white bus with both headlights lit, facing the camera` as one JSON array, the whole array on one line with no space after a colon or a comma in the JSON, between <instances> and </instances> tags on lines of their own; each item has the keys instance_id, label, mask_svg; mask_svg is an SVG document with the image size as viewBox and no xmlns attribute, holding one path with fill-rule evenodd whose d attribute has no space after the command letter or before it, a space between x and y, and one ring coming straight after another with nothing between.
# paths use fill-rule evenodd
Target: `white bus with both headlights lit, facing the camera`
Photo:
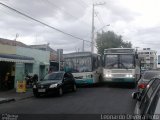
<instances>
[{"instance_id":1,"label":"white bus with both headlights lit, facing the camera","mask_svg":"<svg viewBox=\"0 0 160 120\"><path fill-rule=\"evenodd\" d=\"M140 78L140 62L135 49L110 48L104 50L103 82L132 83Z\"/></svg>"}]
</instances>

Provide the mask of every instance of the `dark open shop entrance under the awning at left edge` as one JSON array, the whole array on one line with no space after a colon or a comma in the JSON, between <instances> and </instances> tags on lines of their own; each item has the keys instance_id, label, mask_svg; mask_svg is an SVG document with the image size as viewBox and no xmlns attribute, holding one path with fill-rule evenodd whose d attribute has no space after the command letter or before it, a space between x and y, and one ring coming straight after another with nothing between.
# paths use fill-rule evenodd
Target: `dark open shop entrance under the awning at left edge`
<instances>
[{"instance_id":1,"label":"dark open shop entrance under the awning at left edge","mask_svg":"<svg viewBox=\"0 0 160 120\"><path fill-rule=\"evenodd\" d=\"M0 90L14 88L15 63L0 61Z\"/></svg>"}]
</instances>

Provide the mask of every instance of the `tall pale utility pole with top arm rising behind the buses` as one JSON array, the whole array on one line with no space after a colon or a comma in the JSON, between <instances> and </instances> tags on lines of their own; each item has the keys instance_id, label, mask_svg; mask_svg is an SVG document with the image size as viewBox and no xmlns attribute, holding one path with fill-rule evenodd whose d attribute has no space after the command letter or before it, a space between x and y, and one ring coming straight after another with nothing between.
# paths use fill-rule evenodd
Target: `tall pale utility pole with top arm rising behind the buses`
<instances>
[{"instance_id":1,"label":"tall pale utility pole with top arm rising behind the buses","mask_svg":"<svg viewBox=\"0 0 160 120\"><path fill-rule=\"evenodd\" d=\"M96 4L93 4L92 6L92 42L91 42L91 52L94 53L94 8L95 6L98 6L98 5L104 5L105 3L96 3Z\"/></svg>"}]
</instances>

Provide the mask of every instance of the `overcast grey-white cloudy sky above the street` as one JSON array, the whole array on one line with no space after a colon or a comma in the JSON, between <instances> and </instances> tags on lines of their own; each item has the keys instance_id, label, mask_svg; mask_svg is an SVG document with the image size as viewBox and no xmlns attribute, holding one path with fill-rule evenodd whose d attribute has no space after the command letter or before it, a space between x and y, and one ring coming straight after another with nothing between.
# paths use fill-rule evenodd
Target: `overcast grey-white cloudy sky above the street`
<instances>
[{"instance_id":1,"label":"overcast grey-white cloudy sky above the street","mask_svg":"<svg viewBox=\"0 0 160 120\"><path fill-rule=\"evenodd\" d=\"M160 0L0 0L37 20L91 41L92 4L95 29L112 30L133 47L150 47L160 54ZM110 24L110 26L106 26ZM106 27L104 27L106 26ZM64 52L82 51L83 41L66 36L0 5L0 38L25 44L47 44ZM95 30L95 31L96 31ZM101 31L99 31L101 32ZM91 45L85 42L85 50Z\"/></svg>"}]
</instances>

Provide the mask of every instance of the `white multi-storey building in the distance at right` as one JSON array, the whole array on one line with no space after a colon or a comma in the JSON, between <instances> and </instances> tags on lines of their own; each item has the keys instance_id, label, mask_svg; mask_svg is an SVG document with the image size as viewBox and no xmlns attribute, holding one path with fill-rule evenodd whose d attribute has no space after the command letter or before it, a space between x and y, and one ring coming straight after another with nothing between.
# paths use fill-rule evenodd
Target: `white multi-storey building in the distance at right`
<instances>
[{"instance_id":1,"label":"white multi-storey building in the distance at right","mask_svg":"<svg viewBox=\"0 0 160 120\"><path fill-rule=\"evenodd\" d=\"M139 58L141 59L141 68L156 69L157 68L157 52L150 48L138 50Z\"/></svg>"}]
</instances>

